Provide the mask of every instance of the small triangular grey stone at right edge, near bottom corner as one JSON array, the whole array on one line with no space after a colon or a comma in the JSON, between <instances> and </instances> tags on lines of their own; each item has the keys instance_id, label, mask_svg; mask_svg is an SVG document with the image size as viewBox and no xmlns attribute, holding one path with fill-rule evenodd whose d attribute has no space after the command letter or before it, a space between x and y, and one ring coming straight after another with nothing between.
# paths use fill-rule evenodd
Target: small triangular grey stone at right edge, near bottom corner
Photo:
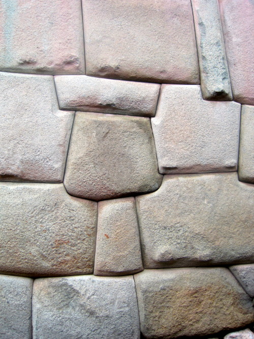
<instances>
[{"instance_id":1,"label":"small triangular grey stone at right edge, near bottom corner","mask_svg":"<svg viewBox=\"0 0 254 339\"><path fill-rule=\"evenodd\" d=\"M254 297L254 264L234 265L234 266L230 266L229 269L235 275L236 279L242 285L244 290L253 298Z\"/></svg>"}]
</instances>

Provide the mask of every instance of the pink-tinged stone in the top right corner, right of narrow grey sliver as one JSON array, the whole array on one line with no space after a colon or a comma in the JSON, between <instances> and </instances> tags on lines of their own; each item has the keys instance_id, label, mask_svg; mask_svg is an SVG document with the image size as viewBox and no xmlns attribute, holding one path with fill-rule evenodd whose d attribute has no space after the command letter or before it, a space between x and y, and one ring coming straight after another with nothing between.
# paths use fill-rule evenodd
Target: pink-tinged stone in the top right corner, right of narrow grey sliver
<instances>
[{"instance_id":1,"label":"pink-tinged stone in the top right corner, right of narrow grey sliver","mask_svg":"<svg viewBox=\"0 0 254 339\"><path fill-rule=\"evenodd\" d=\"M254 105L253 0L219 0L233 98Z\"/></svg>"}]
</instances>

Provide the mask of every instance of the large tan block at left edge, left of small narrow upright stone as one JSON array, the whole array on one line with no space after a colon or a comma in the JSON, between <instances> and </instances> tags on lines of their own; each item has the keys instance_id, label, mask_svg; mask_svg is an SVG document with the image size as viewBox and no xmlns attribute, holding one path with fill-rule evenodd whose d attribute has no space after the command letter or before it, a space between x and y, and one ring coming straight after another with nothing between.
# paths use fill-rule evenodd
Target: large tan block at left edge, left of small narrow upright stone
<instances>
[{"instance_id":1,"label":"large tan block at left edge, left of small narrow upright stone","mask_svg":"<svg viewBox=\"0 0 254 339\"><path fill-rule=\"evenodd\" d=\"M92 273L97 203L69 196L59 183L1 183L0 196L0 272Z\"/></svg>"}]
</instances>

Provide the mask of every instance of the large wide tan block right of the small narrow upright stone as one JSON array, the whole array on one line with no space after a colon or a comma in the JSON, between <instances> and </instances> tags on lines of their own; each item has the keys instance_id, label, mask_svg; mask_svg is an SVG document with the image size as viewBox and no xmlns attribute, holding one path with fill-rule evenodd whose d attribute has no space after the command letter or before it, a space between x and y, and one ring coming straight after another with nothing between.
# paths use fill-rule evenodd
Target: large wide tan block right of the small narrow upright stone
<instances>
[{"instance_id":1,"label":"large wide tan block right of the small narrow upright stone","mask_svg":"<svg viewBox=\"0 0 254 339\"><path fill-rule=\"evenodd\" d=\"M253 262L253 198L237 173L164 176L136 197L144 268Z\"/></svg>"}]
</instances>

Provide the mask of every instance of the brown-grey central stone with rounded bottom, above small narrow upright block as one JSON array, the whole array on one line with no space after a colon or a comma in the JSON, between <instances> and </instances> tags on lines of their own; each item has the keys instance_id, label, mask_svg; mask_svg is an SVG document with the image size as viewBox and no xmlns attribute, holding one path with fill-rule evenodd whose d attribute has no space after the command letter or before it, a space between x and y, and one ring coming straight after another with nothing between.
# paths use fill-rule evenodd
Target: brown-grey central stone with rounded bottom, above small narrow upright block
<instances>
[{"instance_id":1,"label":"brown-grey central stone with rounded bottom, above small narrow upright block","mask_svg":"<svg viewBox=\"0 0 254 339\"><path fill-rule=\"evenodd\" d=\"M64 179L71 195L131 196L155 191L161 180L149 118L76 113Z\"/></svg>"}]
</instances>

